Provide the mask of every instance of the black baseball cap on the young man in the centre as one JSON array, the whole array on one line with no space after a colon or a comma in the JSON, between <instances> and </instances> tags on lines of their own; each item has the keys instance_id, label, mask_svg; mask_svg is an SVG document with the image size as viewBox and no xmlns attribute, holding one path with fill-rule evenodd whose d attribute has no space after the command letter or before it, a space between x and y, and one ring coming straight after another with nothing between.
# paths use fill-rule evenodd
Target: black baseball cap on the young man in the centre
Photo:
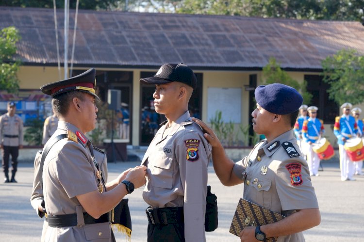
<instances>
[{"instance_id":1,"label":"black baseball cap on the young man in the centre","mask_svg":"<svg viewBox=\"0 0 364 242\"><path fill-rule=\"evenodd\" d=\"M154 77L140 79L140 82L146 84L165 84L172 81L178 81L191 86L193 89L197 86L197 78L193 70L184 65L167 63L159 68Z\"/></svg>"}]
</instances>

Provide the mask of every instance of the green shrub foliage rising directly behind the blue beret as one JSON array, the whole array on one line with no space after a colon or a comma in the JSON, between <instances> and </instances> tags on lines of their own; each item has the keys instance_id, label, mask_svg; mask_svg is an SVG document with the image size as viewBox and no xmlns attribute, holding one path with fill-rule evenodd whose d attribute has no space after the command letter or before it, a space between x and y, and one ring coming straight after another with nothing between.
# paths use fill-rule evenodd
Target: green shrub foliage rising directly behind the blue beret
<instances>
[{"instance_id":1,"label":"green shrub foliage rising directly behind the blue beret","mask_svg":"<svg viewBox=\"0 0 364 242\"><path fill-rule=\"evenodd\" d=\"M282 83L295 88L302 95L303 103L311 102L312 94L307 92L307 82L299 83L293 79L286 71L281 69L275 58L271 57L269 63L263 67L263 77L265 77L266 84Z\"/></svg>"}]
</instances>

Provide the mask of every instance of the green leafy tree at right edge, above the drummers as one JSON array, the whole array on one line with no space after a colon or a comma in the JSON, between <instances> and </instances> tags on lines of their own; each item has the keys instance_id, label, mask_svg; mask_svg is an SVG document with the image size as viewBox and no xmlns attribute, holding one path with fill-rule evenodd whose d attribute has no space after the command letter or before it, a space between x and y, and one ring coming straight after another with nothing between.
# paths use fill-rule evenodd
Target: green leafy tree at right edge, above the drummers
<instances>
[{"instance_id":1,"label":"green leafy tree at right edge, above the drummers","mask_svg":"<svg viewBox=\"0 0 364 242\"><path fill-rule=\"evenodd\" d=\"M364 102L364 56L342 49L322 61L324 81L331 85L329 97L338 105Z\"/></svg>"}]
</instances>

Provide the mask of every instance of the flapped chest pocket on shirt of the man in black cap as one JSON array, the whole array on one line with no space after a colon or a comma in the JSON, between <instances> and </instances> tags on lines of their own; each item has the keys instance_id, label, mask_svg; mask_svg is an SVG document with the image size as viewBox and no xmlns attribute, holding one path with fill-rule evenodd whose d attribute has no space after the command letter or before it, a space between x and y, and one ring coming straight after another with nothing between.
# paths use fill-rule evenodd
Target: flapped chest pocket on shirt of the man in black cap
<instances>
[{"instance_id":1,"label":"flapped chest pocket on shirt of the man in black cap","mask_svg":"<svg viewBox=\"0 0 364 242\"><path fill-rule=\"evenodd\" d=\"M157 153L149 157L153 187L171 189L173 185L173 157Z\"/></svg>"}]
</instances>

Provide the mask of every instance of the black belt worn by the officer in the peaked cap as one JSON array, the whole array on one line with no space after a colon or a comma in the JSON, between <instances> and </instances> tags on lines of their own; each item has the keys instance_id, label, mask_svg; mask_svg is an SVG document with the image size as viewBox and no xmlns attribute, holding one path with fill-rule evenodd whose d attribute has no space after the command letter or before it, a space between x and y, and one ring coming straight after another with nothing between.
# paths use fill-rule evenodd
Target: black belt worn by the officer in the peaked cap
<instances>
[{"instance_id":1,"label":"black belt worn by the officer in the peaked cap","mask_svg":"<svg viewBox=\"0 0 364 242\"><path fill-rule=\"evenodd\" d=\"M111 212L102 214L98 219L93 218L87 212L83 213L83 220L85 225L106 223L111 221ZM46 215L46 221L50 227L69 227L77 226L77 214L61 214L61 215Z\"/></svg>"}]
</instances>

